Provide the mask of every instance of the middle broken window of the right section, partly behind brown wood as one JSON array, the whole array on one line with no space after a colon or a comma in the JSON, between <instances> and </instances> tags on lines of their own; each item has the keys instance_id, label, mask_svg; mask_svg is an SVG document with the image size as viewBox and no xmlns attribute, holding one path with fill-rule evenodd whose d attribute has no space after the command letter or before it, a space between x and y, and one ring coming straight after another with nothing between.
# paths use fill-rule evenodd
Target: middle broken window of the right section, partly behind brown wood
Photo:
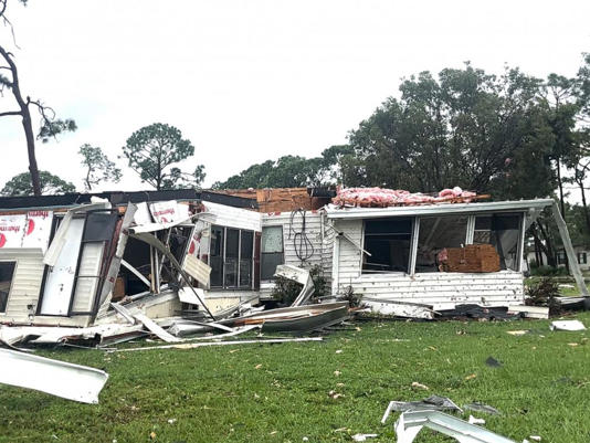
<instances>
[{"instance_id":1,"label":"middle broken window of the right section, partly behind brown wood","mask_svg":"<svg viewBox=\"0 0 590 443\"><path fill-rule=\"evenodd\" d=\"M438 272L439 253L446 247L465 245L467 215L420 219L415 272Z\"/></svg>"}]
</instances>

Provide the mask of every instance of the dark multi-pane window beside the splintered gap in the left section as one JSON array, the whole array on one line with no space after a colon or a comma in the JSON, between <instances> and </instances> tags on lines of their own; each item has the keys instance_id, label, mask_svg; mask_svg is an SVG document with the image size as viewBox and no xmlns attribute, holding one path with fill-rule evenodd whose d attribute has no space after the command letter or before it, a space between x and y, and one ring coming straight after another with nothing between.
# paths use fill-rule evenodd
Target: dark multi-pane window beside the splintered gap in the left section
<instances>
[{"instance_id":1,"label":"dark multi-pane window beside the splintered gap in the left section","mask_svg":"<svg viewBox=\"0 0 590 443\"><path fill-rule=\"evenodd\" d=\"M211 226L211 286L251 288L254 232Z\"/></svg>"}]
</instances>

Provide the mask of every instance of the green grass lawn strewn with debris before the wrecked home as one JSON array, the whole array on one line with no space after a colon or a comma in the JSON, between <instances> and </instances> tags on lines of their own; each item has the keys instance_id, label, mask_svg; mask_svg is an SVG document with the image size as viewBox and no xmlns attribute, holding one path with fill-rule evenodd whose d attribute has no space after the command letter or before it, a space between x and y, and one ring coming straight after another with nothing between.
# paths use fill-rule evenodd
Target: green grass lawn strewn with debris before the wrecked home
<instances>
[{"instance_id":1,"label":"green grass lawn strewn with debris before the wrecked home","mask_svg":"<svg viewBox=\"0 0 590 443\"><path fill-rule=\"evenodd\" d=\"M590 314L572 318L590 326ZM588 333L551 333L548 324L371 321L323 342L43 351L105 369L110 378L101 403L0 386L0 441L349 442L361 432L393 442L398 414L380 424L388 402L435 393L460 405L497 408L502 415L473 414L517 442L540 435L542 442L587 443ZM514 329L531 333L506 333ZM504 366L487 367L488 356ZM414 381L429 390L412 388ZM417 439L444 441L429 430Z\"/></svg>"}]
</instances>

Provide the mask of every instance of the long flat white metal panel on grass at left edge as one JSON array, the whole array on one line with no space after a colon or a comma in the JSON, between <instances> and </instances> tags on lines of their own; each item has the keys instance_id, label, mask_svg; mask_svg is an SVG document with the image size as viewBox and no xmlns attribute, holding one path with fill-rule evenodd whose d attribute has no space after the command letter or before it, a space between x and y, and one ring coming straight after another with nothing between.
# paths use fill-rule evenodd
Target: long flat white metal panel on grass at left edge
<instances>
[{"instance_id":1,"label":"long flat white metal panel on grass at left edge","mask_svg":"<svg viewBox=\"0 0 590 443\"><path fill-rule=\"evenodd\" d=\"M1 383L82 403L98 403L98 393L108 379L98 369L9 349L0 349L0 367Z\"/></svg>"}]
</instances>

